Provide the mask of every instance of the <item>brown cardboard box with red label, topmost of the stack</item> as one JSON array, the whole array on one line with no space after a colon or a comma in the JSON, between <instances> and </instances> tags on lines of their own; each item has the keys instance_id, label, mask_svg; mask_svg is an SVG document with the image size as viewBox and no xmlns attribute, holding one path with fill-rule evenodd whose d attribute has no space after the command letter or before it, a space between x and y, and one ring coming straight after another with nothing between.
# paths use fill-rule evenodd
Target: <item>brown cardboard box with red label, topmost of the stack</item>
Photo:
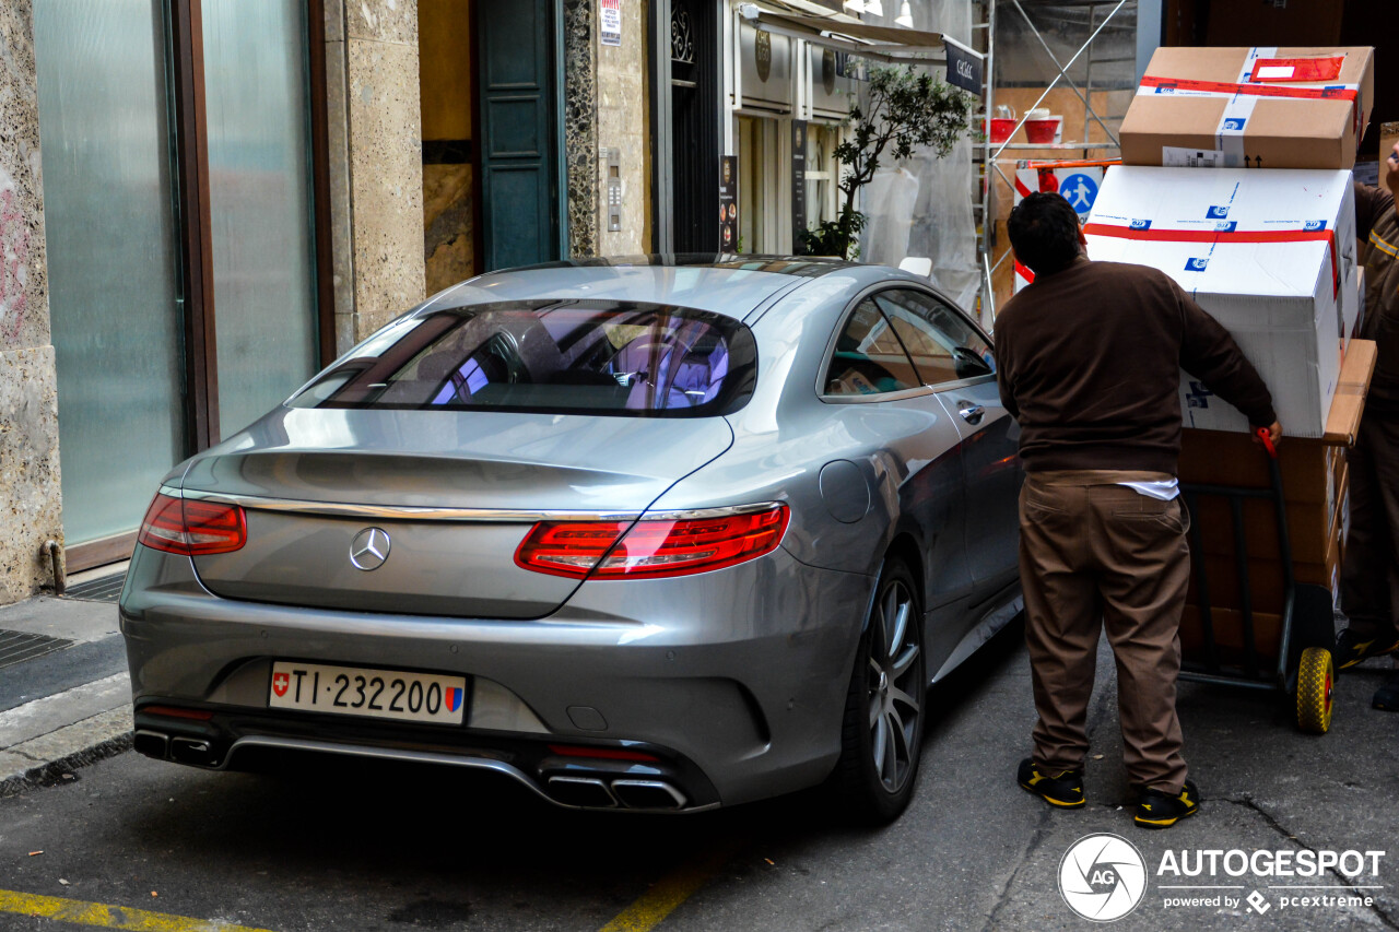
<instances>
[{"instance_id":1,"label":"brown cardboard box with red label, topmost of the stack","mask_svg":"<svg viewBox=\"0 0 1399 932\"><path fill-rule=\"evenodd\" d=\"M1371 48L1160 48L1122 164L1349 169L1372 99Z\"/></svg>"}]
</instances>

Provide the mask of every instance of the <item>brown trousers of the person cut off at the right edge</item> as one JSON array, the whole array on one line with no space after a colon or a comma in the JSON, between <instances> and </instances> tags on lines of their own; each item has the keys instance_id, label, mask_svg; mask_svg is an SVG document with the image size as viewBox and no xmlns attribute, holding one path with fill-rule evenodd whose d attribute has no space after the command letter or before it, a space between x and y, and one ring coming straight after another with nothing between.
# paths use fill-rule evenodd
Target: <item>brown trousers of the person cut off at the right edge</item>
<instances>
[{"instance_id":1,"label":"brown trousers of the person cut off at the right edge","mask_svg":"<svg viewBox=\"0 0 1399 932\"><path fill-rule=\"evenodd\" d=\"M1350 466L1340 607L1363 638L1391 640L1399 610L1399 417L1365 411Z\"/></svg>"}]
</instances>

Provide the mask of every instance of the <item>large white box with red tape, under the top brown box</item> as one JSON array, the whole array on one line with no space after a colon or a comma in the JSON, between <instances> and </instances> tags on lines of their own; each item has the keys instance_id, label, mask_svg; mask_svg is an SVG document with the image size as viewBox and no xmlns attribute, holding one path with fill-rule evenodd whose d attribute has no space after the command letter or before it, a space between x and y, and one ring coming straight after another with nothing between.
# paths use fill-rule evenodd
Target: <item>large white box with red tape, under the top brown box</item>
<instances>
[{"instance_id":1,"label":"large white box with red tape, under the top brown box","mask_svg":"<svg viewBox=\"0 0 1399 932\"><path fill-rule=\"evenodd\" d=\"M1360 313L1350 172L1121 165L1093 204L1088 256L1153 266L1238 341L1290 437L1321 438ZM1186 427L1248 420L1182 374Z\"/></svg>"}]
</instances>

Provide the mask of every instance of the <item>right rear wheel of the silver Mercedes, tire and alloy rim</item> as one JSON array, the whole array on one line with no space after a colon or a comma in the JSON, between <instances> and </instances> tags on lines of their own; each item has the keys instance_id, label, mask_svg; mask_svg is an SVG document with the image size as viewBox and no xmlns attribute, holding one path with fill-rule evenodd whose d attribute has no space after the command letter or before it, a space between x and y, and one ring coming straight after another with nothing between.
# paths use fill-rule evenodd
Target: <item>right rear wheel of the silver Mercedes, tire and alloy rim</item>
<instances>
[{"instance_id":1,"label":"right rear wheel of the silver Mercedes, tire and alloy rim","mask_svg":"<svg viewBox=\"0 0 1399 932\"><path fill-rule=\"evenodd\" d=\"M890 823L914 798L928 684L922 620L914 574L904 561L887 560L855 651L831 775L844 807L860 821Z\"/></svg>"}]
</instances>

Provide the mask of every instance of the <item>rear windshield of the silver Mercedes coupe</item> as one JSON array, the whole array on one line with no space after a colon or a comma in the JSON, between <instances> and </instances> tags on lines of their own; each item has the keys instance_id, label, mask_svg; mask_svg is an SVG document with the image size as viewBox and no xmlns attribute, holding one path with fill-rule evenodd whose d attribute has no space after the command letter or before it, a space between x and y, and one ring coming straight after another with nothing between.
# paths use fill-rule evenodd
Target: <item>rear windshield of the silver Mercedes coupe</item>
<instances>
[{"instance_id":1,"label":"rear windshield of the silver Mercedes coupe","mask_svg":"<svg viewBox=\"0 0 1399 932\"><path fill-rule=\"evenodd\" d=\"M288 404L706 417L743 407L755 376L753 333L719 313L516 301L389 325Z\"/></svg>"}]
</instances>

